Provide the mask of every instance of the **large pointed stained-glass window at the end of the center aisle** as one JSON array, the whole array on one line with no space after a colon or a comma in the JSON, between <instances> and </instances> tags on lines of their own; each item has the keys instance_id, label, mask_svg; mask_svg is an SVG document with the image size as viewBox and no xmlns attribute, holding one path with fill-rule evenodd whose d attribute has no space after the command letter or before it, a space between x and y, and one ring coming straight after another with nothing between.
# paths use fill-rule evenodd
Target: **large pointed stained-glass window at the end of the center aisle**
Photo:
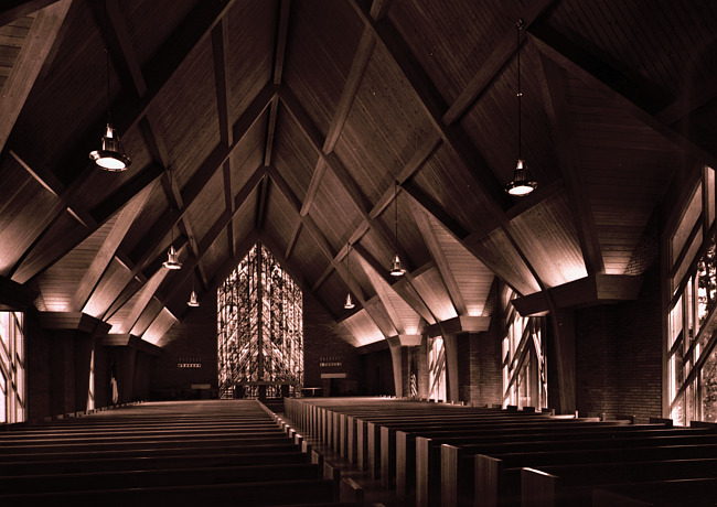
<instances>
[{"instance_id":1,"label":"large pointed stained-glass window at the end of the center aisle","mask_svg":"<svg viewBox=\"0 0 717 507\"><path fill-rule=\"evenodd\" d=\"M300 392L301 289L261 244L220 287L217 310L221 396L271 398Z\"/></svg>"}]
</instances>

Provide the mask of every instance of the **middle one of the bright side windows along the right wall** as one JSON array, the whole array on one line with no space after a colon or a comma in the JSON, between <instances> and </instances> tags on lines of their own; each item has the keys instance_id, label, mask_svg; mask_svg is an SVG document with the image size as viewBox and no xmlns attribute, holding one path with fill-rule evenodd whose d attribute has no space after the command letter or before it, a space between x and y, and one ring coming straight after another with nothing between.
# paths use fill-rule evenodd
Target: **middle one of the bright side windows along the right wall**
<instances>
[{"instance_id":1,"label":"middle one of the bright side windows along the right wall","mask_svg":"<svg viewBox=\"0 0 717 507\"><path fill-rule=\"evenodd\" d=\"M510 304L515 296L504 288L503 407L547 407L545 317L521 316Z\"/></svg>"}]
</instances>

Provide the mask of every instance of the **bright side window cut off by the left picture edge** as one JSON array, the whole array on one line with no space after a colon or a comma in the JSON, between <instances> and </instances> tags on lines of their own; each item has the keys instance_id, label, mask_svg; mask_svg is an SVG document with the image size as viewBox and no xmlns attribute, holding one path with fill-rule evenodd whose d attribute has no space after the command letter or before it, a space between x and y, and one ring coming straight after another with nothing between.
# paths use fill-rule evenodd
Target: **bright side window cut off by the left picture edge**
<instances>
[{"instance_id":1,"label":"bright side window cut off by the left picture edge","mask_svg":"<svg viewBox=\"0 0 717 507\"><path fill-rule=\"evenodd\" d=\"M25 419L23 314L0 312L0 423Z\"/></svg>"}]
</instances>

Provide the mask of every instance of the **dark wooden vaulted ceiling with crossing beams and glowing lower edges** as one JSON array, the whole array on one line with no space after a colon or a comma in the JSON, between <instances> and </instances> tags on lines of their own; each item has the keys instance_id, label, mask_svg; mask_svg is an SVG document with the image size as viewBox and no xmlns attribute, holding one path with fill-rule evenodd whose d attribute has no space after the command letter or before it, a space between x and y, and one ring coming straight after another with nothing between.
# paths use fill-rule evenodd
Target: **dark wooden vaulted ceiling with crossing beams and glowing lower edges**
<instances>
[{"instance_id":1,"label":"dark wooden vaulted ceiling with crossing beams and glowing lower edges","mask_svg":"<svg viewBox=\"0 0 717 507\"><path fill-rule=\"evenodd\" d=\"M656 206L717 162L717 6L657 3L6 1L0 303L161 344L257 240L355 345L480 328L496 277L525 313L629 296ZM108 88L122 173L87 157Z\"/></svg>"}]
</instances>

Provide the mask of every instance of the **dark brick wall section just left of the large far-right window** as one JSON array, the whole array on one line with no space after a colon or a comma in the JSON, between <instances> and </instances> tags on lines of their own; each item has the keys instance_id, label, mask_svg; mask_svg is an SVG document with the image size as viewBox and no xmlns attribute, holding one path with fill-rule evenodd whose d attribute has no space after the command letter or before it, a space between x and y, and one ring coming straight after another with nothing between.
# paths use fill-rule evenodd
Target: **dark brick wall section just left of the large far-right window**
<instances>
[{"instance_id":1,"label":"dark brick wall section just left of the large far-right window","mask_svg":"<svg viewBox=\"0 0 717 507\"><path fill-rule=\"evenodd\" d=\"M662 305L656 220L653 217L629 265L644 277L635 301L576 311L578 411L662 414Z\"/></svg>"}]
</instances>

